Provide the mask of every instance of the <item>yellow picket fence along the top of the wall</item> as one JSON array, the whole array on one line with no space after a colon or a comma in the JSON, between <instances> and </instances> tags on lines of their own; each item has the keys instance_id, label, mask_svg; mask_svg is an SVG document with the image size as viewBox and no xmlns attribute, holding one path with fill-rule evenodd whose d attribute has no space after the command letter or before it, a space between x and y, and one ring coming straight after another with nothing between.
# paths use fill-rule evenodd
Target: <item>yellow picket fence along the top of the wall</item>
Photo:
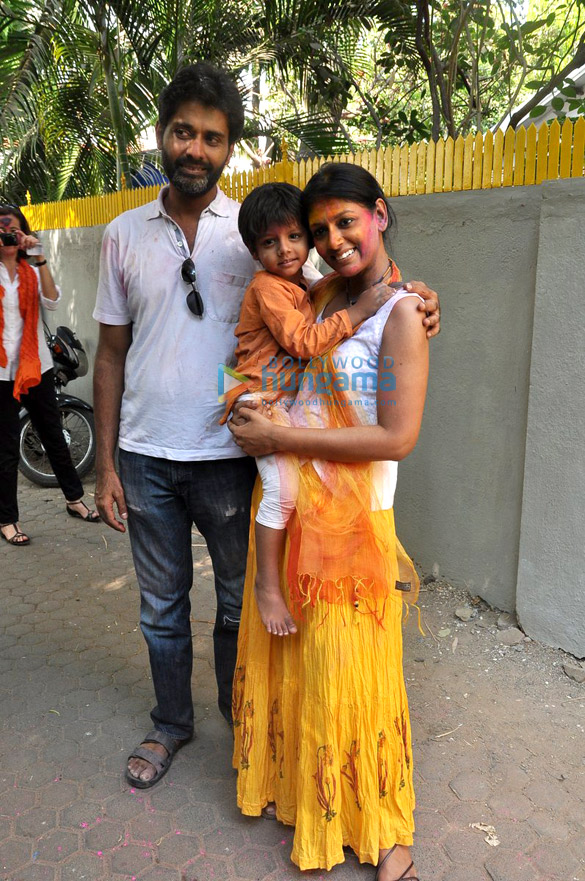
<instances>
[{"instance_id":1,"label":"yellow picket fence along the top of the wall","mask_svg":"<svg viewBox=\"0 0 585 881\"><path fill-rule=\"evenodd\" d=\"M402 147L366 150L344 156L302 161L283 160L267 168L225 173L221 187L232 199L241 201L268 181L288 181L304 187L324 162L352 162L367 168L390 197L495 187L519 187L545 180L585 175L585 119L555 120L540 128L508 129L422 142ZM35 230L70 229L108 223L129 208L156 198L159 187L121 190L103 196L62 202L28 204L23 211Z\"/></svg>"}]
</instances>

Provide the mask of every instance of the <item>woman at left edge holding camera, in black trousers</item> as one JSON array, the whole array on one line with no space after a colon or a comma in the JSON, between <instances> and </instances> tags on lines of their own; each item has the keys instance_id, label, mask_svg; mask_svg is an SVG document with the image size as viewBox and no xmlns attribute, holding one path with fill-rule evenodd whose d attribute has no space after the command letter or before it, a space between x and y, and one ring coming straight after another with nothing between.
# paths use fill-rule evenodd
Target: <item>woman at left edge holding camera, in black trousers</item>
<instances>
[{"instance_id":1,"label":"woman at left edge holding camera, in black trousers","mask_svg":"<svg viewBox=\"0 0 585 881\"><path fill-rule=\"evenodd\" d=\"M32 266L27 251L34 252ZM63 490L71 517L97 523L82 501L83 487L63 437L53 360L45 342L41 304L57 308L60 292L24 214L0 205L0 534L13 546L30 544L18 522L19 410L26 407Z\"/></svg>"}]
</instances>

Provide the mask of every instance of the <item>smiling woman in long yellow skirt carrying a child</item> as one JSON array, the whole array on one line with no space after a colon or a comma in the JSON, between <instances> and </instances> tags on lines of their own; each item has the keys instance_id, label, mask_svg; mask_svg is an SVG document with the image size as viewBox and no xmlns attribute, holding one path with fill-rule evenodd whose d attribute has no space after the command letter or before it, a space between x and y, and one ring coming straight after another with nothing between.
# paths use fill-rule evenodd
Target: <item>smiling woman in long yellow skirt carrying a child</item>
<instances>
[{"instance_id":1,"label":"smiling woman in long yellow skirt carrying a child","mask_svg":"<svg viewBox=\"0 0 585 881\"><path fill-rule=\"evenodd\" d=\"M384 243L392 214L368 172L324 166L303 203L334 270L314 290L318 314L396 283ZM420 302L397 286L351 339L311 363L289 411L293 427L245 409L232 426L246 452L286 452L299 472L282 569L295 635L278 638L262 625L251 530L233 692L238 805L258 816L274 804L295 826L291 858L301 869L331 869L350 846L378 867L378 881L416 879L401 624L418 579L396 539L393 497L424 408Z\"/></svg>"}]
</instances>

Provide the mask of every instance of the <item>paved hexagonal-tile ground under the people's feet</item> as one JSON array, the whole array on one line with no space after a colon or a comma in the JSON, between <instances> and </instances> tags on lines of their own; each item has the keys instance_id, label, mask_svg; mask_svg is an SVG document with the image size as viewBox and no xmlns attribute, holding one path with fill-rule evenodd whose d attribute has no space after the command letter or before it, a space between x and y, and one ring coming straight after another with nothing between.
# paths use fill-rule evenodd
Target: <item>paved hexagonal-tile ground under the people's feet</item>
<instances>
[{"instance_id":1,"label":"paved hexagonal-tile ground under the people's feet","mask_svg":"<svg viewBox=\"0 0 585 881\"><path fill-rule=\"evenodd\" d=\"M122 775L152 702L127 538L66 517L58 491L22 480L21 501L33 544L0 548L0 879L304 877L289 862L291 830L234 804L202 540L193 537L198 736L144 793ZM585 685L565 675L561 652L502 645L495 612L480 605L459 621L465 599L428 585L433 635L406 634L421 881L585 881ZM373 870L348 854L331 879L373 881Z\"/></svg>"}]
</instances>

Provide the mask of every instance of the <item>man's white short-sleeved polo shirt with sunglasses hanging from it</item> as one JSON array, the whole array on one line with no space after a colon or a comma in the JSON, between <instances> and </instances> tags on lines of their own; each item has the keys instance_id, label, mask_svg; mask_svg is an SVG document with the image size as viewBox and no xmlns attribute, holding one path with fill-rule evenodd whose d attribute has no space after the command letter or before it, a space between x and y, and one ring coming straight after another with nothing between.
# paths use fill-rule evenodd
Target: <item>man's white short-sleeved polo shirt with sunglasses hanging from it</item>
<instances>
[{"instance_id":1,"label":"man's white short-sleeved polo shirt with sunglasses hanging from it","mask_svg":"<svg viewBox=\"0 0 585 881\"><path fill-rule=\"evenodd\" d=\"M201 213L189 255L180 227L154 202L126 211L104 233L95 319L132 323L119 444L175 461L245 455L219 420L218 368L235 366L234 331L244 291L259 268L238 232L239 204L218 189ZM181 265L191 256L202 318L186 304ZM318 275L318 273L314 273Z\"/></svg>"}]
</instances>

